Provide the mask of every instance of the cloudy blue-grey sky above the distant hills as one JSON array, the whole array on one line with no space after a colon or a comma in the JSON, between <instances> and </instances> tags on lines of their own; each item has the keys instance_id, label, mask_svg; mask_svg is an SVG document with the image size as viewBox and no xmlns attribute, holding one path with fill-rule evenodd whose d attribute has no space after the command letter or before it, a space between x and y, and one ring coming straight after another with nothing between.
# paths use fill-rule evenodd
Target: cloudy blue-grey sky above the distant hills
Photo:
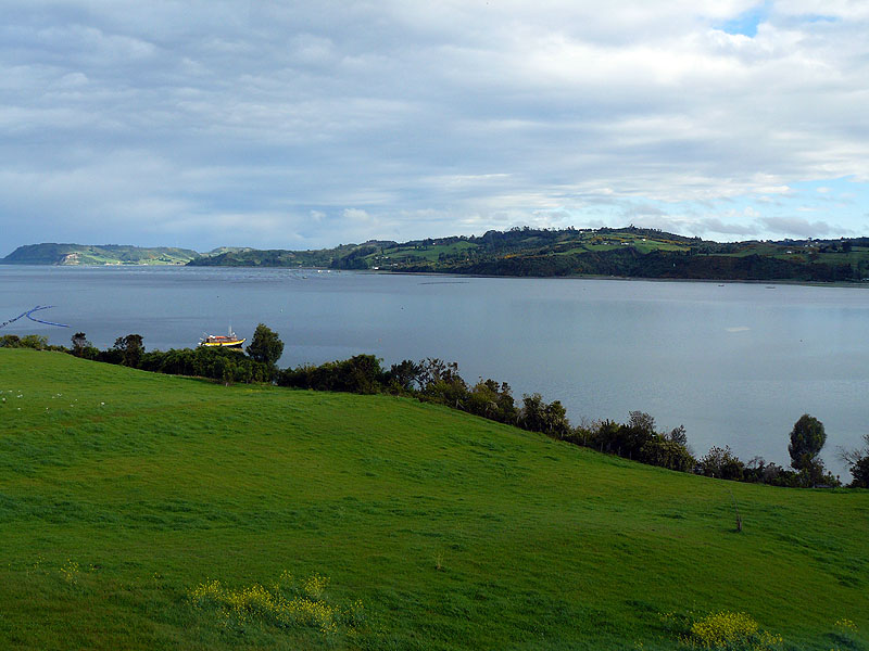
<instances>
[{"instance_id":1,"label":"cloudy blue-grey sky above the distant hills","mask_svg":"<svg viewBox=\"0 0 869 651\"><path fill-rule=\"evenodd\" d=\"M0 10L0 256L869 234L866 0Z\"/></svg>"}]
</instances>

